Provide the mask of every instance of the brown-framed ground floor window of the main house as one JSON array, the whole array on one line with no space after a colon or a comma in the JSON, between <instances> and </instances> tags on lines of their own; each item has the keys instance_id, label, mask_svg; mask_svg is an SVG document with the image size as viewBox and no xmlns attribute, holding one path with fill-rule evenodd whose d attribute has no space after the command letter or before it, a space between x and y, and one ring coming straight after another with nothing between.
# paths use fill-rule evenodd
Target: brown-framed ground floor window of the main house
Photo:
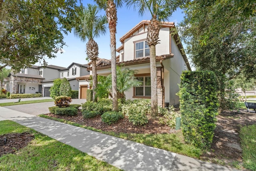
<instances>
[{"instance_id":1,"label":"brown-framed ground floor window of the main house","mask_svg":"<svg viewBox=\"0 0 256 171\"><path fill-rule=\"evenodd\" d=\"M150 76L137 77L142 84L134 87L135 97L151 97L151 78Z\"/></svg>"}]
</instances>

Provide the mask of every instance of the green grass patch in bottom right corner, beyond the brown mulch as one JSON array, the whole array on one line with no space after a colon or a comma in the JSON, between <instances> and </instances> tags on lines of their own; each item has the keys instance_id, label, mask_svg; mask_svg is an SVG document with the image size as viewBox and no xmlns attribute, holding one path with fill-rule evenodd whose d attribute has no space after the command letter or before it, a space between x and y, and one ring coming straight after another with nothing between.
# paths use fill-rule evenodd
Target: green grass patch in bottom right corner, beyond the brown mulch
<instances>
[{"instance_id":1,"label":"green grass patch in bottom right corner, beyond the brown mulch","mask_svg":"<svg viewBox=\"0 0 256 171\"><path fill-rule=\"evenodd\" d=\"M256 125L242 127L240 131L242 157L246 169L256 171Z\"/></svg>"}]
</instances>

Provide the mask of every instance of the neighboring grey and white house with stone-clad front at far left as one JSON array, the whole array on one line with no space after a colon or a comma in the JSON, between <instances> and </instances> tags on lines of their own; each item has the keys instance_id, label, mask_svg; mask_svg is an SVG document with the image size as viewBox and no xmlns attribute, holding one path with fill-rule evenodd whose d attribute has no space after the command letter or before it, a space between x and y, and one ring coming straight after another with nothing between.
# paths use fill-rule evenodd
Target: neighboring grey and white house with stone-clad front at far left
<instances>
[{"instance_id":1,"label":"neighboring grey and white house with stone-clad front at far left","mask_svg":"<svg viewBox=\"0 0 256 171\"><path fill-rule=\"evenodd\" d=\"M42 93L44 97L50 97L50 87L57 78L66 77L72 90L78 90L79 82L76 77L90 74L88 65L72 63L68 68L48 65L31 66L22 69L20 73L10 73L4 81L5 89L10 93Z\"/></svg>"}]
</instances>

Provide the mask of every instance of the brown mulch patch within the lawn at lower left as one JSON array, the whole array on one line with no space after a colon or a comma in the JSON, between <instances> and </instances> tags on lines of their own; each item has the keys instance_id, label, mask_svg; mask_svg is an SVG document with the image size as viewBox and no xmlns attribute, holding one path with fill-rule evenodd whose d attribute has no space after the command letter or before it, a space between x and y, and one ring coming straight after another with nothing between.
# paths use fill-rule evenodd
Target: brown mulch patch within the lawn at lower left
<instances>
[{"instance_id":1,"label":"brown mulch patch within the lawn at lower left","mask_svg":"<svg viewBox=\"0 0 256 171\"><path fill-rule=\"evenodd\" d=\"M9 133L0 136L0 157L4 154L15 153L34 139L31 133Z\"/></svg>"}]
</instances>

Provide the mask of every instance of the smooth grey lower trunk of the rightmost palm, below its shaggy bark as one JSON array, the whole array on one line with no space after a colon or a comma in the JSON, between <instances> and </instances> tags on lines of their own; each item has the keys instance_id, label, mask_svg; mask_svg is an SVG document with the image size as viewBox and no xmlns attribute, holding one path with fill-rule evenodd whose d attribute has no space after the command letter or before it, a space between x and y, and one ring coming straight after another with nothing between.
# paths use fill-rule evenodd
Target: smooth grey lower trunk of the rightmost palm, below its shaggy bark
<instances>
[{"instance_id":1,"label":"smooth grey lower trunk of the rightmost palm, below its shaggy bark","mask_svg":"<svg viewBox=\"0 0 256 171\"><path fill-rule=\"evenodd\" d=\"M157 109L157 80L156 80L156 47L150 46L150 77L151 77L151 116L156 117Z\"/></svg>"}]
</instances>

